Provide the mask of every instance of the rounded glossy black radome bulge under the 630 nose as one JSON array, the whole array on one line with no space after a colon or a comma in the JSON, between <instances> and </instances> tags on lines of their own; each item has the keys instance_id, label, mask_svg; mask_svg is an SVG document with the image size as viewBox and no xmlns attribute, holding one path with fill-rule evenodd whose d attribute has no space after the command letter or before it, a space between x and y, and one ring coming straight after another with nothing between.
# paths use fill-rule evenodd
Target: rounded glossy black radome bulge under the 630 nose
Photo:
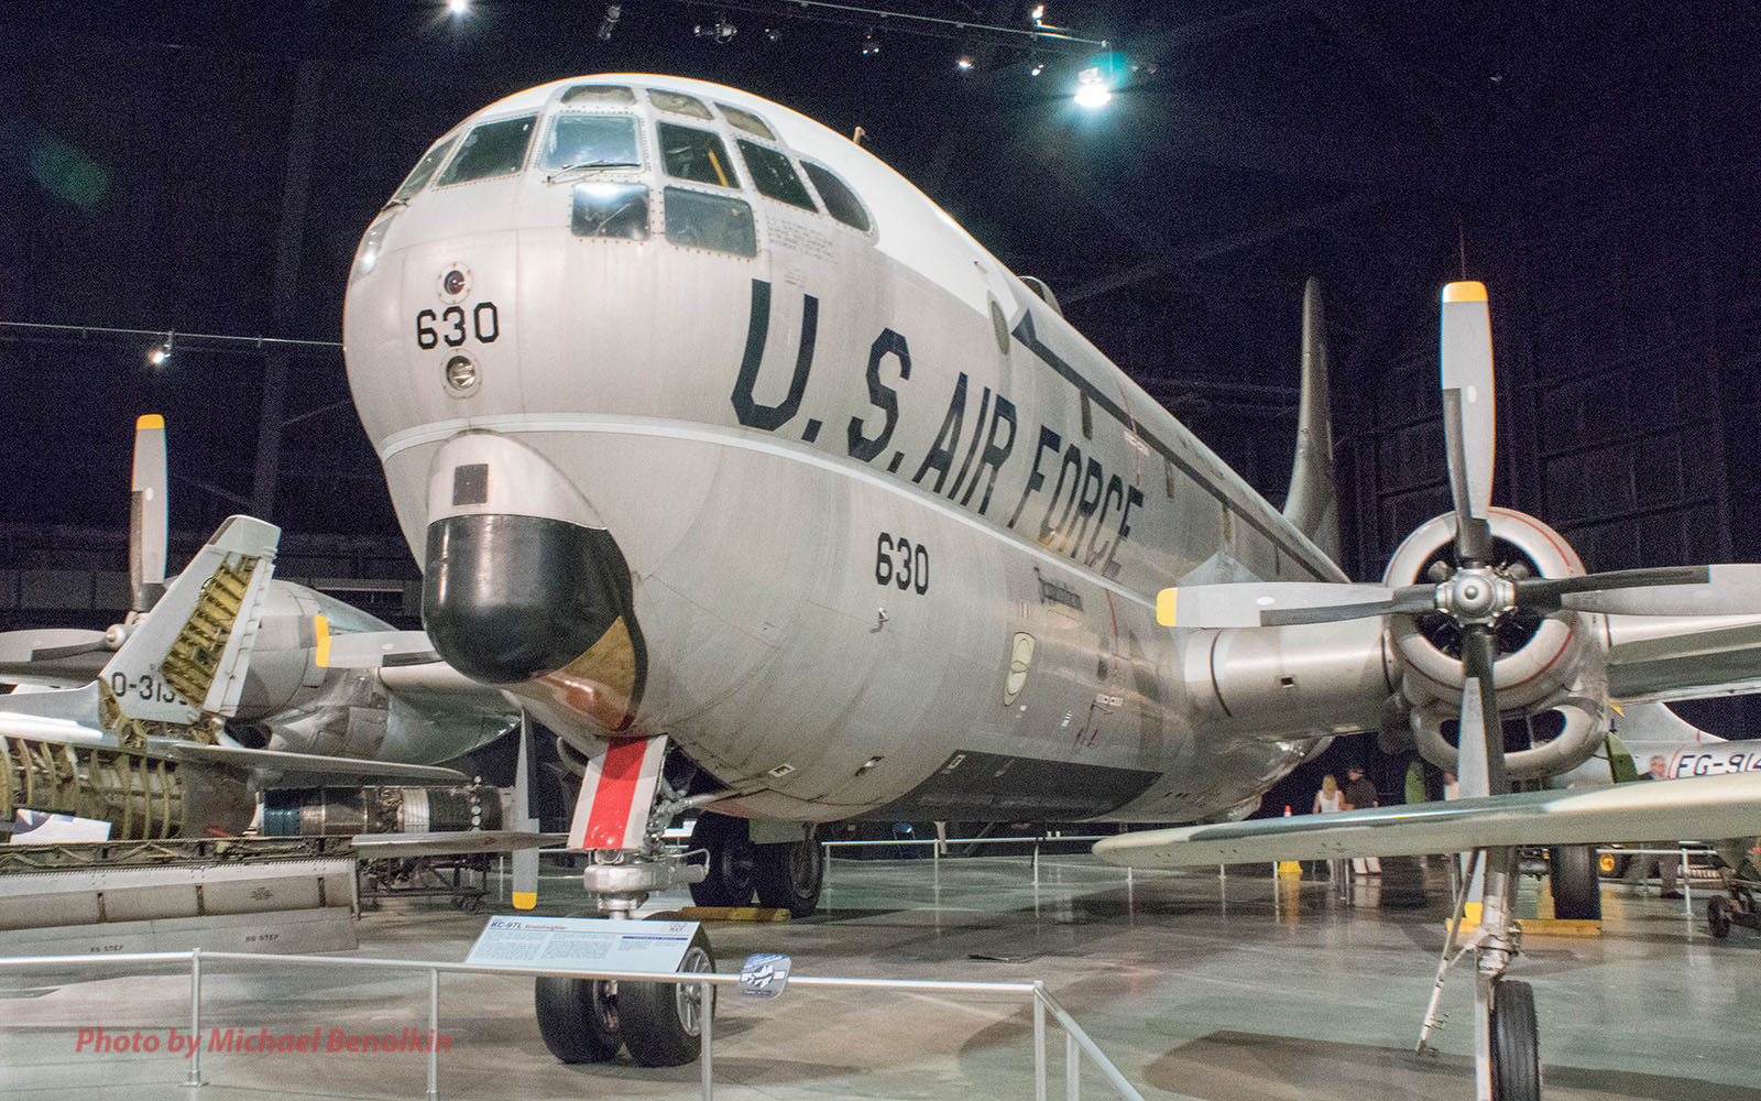
<instances>
[{"instance_id":1,"label":"rounded glossy black radome bulge under the 630 nose","mask_svg":"<svg viewBox=\"0 0 1761 1101\"><path fill-rule=\"evenodd\" d=\"M423 627L467 676L514 685L553 673L620 620L639 639L630 569L611 532L541 516L428 525Z\"/></svg>"}]
</instances>

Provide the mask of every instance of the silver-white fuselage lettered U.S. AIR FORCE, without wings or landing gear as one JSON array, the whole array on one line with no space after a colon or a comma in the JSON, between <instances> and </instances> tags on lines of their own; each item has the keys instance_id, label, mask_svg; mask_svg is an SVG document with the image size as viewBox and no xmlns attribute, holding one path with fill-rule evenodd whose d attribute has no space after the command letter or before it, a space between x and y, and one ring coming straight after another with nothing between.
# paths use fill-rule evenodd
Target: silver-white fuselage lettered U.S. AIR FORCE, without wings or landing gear
<instances>
[{"instance_id":1,"label":"silver-white fuselage lettered U.S. AIR FORCE, without wings or landing gear","mask_svg":"<svg viewBox=\"0 0 1761 1101\"><path fill-rule=\"evenodd\" d=\"M1338 567L768 100L616 74L484 107L368 229L345 347L440 654L581 749L673 736L733 812L1183 821L1328 733L1199 720L1208 636L1155 594Z\"/></svg>"}]
</instances>

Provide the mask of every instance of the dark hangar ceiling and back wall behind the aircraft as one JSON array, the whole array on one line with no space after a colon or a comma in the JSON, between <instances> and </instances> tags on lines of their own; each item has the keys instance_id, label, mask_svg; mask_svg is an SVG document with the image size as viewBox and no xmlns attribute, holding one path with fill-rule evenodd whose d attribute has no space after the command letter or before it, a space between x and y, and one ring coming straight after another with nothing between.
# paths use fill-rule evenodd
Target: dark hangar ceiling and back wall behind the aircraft
<instances>
[{"instance_id":1,"label":"dark hangar ceiling and back wall behind the aircraft","mask_svg":"<svg viewBox=\"0 0 1761 1101\"><path fill-rule=\"evenodd\" d=\"M1095 113L1069 99L1088 49L875 19L863 56L866 26L780 0L627 0L606 42L604 7L9 9L0 321L335 342L359 233L435 136L542 81L673 72L861 125L1273 500L1321 277L1356 576L1448 499L1435 299L1463 271L1493 292L1500 502L1592 567L1761 557L1761 26L1742 5L1051 2L1048 23L1136 67ZM1030 7L895 11L1027 26ZM718 14L731 42L692 35ZM0 571L114 569L129 426L160 410L187 541L257 504L298 574L414 576L340 354L188 338L151 372L150 344L0 329ZM0 615L32 618L7 583Z\"/></svg>"}]
</instances>

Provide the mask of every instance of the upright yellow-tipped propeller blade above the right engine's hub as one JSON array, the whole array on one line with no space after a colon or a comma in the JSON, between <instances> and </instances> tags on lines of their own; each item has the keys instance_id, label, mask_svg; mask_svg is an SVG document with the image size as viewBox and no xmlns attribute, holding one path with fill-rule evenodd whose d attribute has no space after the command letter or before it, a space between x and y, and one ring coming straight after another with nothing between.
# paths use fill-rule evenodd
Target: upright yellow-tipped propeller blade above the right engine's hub
<instances>
[{"instance_id":1,"label":"upright yellow-tipped propeller blade above the right engine's hub","mask_svg":"<svg viewBox=\"0 0 1761 1101\"><path fill-rule=\"evenodd\" d=\"M1465 562L1492 557L1492 467L1497 417L1492 375L1492 315L1486 285L1442 289L1442 428L1455 499L1455 551Z\"/></svg>"}]
</instances>

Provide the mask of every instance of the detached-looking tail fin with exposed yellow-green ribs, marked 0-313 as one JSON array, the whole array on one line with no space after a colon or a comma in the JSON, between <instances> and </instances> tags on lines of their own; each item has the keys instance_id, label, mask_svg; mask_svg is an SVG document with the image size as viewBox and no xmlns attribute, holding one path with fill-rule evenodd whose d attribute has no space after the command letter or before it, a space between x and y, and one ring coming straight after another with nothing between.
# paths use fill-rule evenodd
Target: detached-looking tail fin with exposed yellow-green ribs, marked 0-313
<instances>
[{"instance_id":1,"label":"detached-looking tail fin with exposed yellow-green ribs, marked 0-313","mask_svg":"<svg viewBox=\"0 0 1761 1101\"><path fill-rule=\"evenodd\" d=\"M273 523L229 516L195 551L99 676L125 717L187 724L232 713L280 537Z\"/></svg>"}]
</instances>

